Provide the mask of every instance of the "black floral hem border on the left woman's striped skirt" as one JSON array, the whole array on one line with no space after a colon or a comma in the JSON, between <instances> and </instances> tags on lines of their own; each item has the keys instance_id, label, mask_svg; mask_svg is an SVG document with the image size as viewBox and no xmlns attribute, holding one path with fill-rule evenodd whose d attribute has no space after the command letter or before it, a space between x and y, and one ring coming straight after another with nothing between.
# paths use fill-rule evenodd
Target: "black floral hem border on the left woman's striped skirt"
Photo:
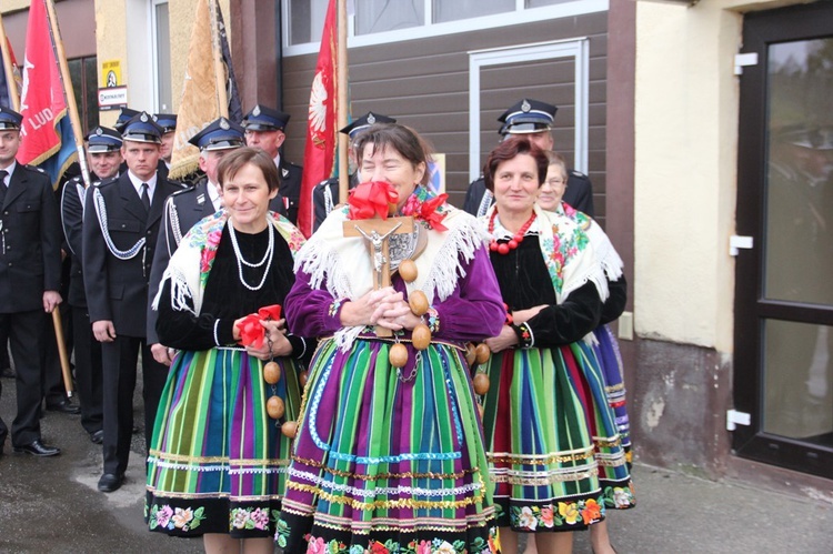
<instances>
[{"instance_id":1,"label":"black floral hem border on the left woman's striped skirt","mask_svg":"<svg viewBox=\"0 0 833 554\"><path fill-rule=\"evenodd\" d=\"M227 498L144 496L144 523L171 536L225 533L233 538L271 537L280 516L279 501L230 502Z\"/></svg>"}]
</instances>

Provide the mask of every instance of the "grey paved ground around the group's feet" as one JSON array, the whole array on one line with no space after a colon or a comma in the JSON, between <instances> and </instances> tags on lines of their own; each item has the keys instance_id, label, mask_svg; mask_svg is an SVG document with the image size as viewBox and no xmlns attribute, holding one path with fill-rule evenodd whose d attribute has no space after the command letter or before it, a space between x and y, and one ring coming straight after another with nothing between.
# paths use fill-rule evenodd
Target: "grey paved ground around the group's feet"
<instances>
[{"instance_id":1,"label":"grey paved ground around the group's feet","mask_svg":"<svg viewBox=\"0 0 833 554\"><path fill-rule=\"evenodd\" d=\"M3 379L0 415L14 414L14 386ZM140 406L137 396L137 406ZM141 422L137 407L136 421ZM145 531L141 434L126 485L103 494L96 488L101 447L92 444L78 416L48 413L43 439L63 453L53 459L0 456L0 552L191 553L199 540L169 538ZM624 553L784 553L833 554L833 483L811 500L800 493L759 490L754 483L712 482L636 465L639 506L611 516L614 546ZM579 534L575 552L591 552Z\"/></svg>"}]
</instances>

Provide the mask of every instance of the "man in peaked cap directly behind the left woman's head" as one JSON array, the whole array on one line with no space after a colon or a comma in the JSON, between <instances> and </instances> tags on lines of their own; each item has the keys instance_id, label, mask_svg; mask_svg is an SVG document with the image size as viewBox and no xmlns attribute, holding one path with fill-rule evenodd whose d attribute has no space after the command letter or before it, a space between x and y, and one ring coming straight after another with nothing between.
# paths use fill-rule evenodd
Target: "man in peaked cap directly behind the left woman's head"
<instances>
[{"instance_id":1,"label":"man in peaked cap directly behind the left woman's head","mask_svg":"<svg viewBox=\"0 0 833 554\"><path fill-rule=\"evenodd\" d=\"M281 185L278 189L280 195L269 203L269 209L281 212L282 203L288 219L294 224L298 222L298 201L301 197L303 170L300 165L287 161L279 151L283 141L287 140L284 130L288 123L289 113L262 104L257 104L243 118L247 145L259 148L268 153L274 160L281 177Z\"/></svg>"}]
</instances>

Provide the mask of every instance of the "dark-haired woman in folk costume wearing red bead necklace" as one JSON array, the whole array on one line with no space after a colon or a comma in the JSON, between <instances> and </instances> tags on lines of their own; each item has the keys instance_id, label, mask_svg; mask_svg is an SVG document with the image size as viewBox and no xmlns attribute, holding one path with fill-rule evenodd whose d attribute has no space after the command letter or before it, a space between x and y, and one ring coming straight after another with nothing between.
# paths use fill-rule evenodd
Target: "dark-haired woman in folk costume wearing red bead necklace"
<instances>
[{"instance_id":1,"label":"dark-haired woman in folk costume wearing red bead necklace","mask_svg":"<svg viewBox=\"0 0 833 554\"><path fill-rule=\"evenodd\" d=\"M495 148L484 170L495 205L482 223L506 321L485 341L492 356L475 383L489 383L479 390L508 553L518 532L536 533L542 552L571 552L571 532L602 521L613 501L600 466L623 477L632 503L604 380L584 341L599 324L606 280L584 231L535 205L546 168L546 154L520 137Z\"/></svg>"}]
</instances>

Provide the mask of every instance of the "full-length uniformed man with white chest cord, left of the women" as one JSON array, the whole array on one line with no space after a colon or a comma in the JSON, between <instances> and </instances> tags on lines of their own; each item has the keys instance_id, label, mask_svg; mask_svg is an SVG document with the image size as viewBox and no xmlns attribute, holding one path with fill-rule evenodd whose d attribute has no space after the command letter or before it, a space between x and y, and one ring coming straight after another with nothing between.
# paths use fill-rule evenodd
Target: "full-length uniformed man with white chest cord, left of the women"
<instances>
[{"instance_id":1,"label":"full-length uniformed man with white chest cord, left of the women","mask_svg":"<svg viewBox=\"0 0 833 554\"><path fill-rule=\"evenodd\" d=\"M104 400L104 472L99 491L124 480L133 430L137 360L142 351L144 441L150 444L168 369L147 342L148 280L165 199L181 187L157 172L161 129L141 112L122 132L128 172L103 181L84 199L84 289L96 340L101 342Z\"/></svg>"}]
</instances>

